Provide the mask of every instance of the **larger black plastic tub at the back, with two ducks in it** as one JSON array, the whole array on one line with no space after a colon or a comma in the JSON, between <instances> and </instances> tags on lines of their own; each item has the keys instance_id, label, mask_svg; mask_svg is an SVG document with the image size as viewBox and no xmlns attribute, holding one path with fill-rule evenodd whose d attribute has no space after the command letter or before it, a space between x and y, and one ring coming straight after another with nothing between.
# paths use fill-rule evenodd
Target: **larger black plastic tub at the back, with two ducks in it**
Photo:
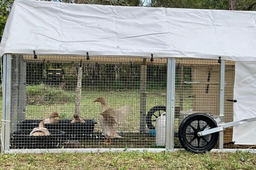
<instances>
[{"instance_id":1,"label":"larger black plastic tub at the back, with two ducks in it","mask_svg":"<svg viewBox=\"0 0 256 170\"><path fill-rule=\"evenodd\" d=\"M18 124L20 129L32 130L38 127L42 120L24 120ZM65 132L64 137L67 139L79 140L80 138L87 138L93 134L94 125L97 124L95 120L84 120L85 123L70 123L72 120L58 120L58 124L47 123L45 128L52 130L62 130Z\"/></svg>"}]
</instances>

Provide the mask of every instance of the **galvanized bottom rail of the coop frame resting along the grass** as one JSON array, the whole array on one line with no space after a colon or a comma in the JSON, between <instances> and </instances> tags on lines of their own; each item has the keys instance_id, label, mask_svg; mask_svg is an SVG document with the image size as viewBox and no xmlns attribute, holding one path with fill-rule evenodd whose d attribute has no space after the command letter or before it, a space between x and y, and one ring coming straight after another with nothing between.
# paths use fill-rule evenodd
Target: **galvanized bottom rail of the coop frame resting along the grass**
<instances>
[{"instance_id":1,"label":"galvanized bottom rail of the coop frame resting along the grass","mask_svg":"<svg viewBox=\"0 0 256 170\"><path fill-rule=\"evenodd\" d=\"M237 152L237 151L242 151L242 152L249 152L249 153L256 153L255 149L212 149L211 152ZM126 148L82 148L82 149L10 149L10 150L5 150L5 153L62 153L62 152L69 152L69 153L74 153L74 152L92 152L92 153L101 153L101 152L109 152L109 151L114 151L114 152L130 152L130 151L137 151L137 152L178 152L178 151L184 151L186 152L185 149L164 149L164 148L147 148L147 149L136 149L136 148L131 148L131 149L126 149Z\"/></svg>"}]
</instances>

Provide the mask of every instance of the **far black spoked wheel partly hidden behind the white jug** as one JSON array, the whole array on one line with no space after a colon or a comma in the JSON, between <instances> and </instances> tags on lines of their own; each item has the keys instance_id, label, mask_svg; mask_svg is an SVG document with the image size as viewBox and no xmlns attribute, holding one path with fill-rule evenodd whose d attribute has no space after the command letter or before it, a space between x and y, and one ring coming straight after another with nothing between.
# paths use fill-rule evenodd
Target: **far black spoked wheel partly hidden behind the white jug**
<instances>
[{"instance_id":1,"label":"far black spoked wheel partly hidden behind the white jug","mask_svg":"<svg viewBox=\"0 0 256 170\"><path fill-rule=\"evenodd\" d=\"M166 111L165 106L157 105L157 106L154 106L153 108L151 108L147 112L146 124L147 124L148 129L150 129L150 130L155 129L156 118L161 116L163 114L163 112L165 112L165 111ZM165 114L163 114L163 115L165 115Z\"/></svg>"}]
</instances>

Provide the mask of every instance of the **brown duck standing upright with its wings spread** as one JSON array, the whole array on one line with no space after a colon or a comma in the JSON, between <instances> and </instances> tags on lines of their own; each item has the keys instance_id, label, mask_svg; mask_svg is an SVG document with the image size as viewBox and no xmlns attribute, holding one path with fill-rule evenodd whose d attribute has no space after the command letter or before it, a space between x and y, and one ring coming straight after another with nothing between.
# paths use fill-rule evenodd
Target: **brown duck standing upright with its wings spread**
<instances>
[{"instance_id":1,"label":"brown duck standing upright with its wings spread","mask_svg":"<svg viewBox=\"0 0 256 170\"><path fill-rule=\"evenodd\" d=\"M98 99L94 100L93 102L100 102L101 103L101 113L99 116L99 122L102 129L102 132L106 136L105 144L111 143L111 138L122 138L115 132L114 125L119 124L119 122L124 121L124 117L126 114L129 114L132 111L131 106L122 106L118 109L111 109L108 108L107 102L104 97L99 97Z\"/></svg>"}]
</instances>

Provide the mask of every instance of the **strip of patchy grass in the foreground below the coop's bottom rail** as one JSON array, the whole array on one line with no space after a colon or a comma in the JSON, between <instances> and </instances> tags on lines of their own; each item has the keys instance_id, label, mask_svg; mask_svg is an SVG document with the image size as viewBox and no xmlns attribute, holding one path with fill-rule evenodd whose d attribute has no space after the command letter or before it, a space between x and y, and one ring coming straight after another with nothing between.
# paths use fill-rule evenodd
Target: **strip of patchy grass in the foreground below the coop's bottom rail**
<instances>
[{"instance_id":1,"label":"strip of patchy grass in the foreground below the coop's bottom rail","mask_svg":"<svg viewBox=\"0 0 256 170\"><path fill-rule=\"evenodd\" d=\"M0 162L0 169L256 169L256 155L241 152L7 154Z\"/></svg>"}]
</instances>

